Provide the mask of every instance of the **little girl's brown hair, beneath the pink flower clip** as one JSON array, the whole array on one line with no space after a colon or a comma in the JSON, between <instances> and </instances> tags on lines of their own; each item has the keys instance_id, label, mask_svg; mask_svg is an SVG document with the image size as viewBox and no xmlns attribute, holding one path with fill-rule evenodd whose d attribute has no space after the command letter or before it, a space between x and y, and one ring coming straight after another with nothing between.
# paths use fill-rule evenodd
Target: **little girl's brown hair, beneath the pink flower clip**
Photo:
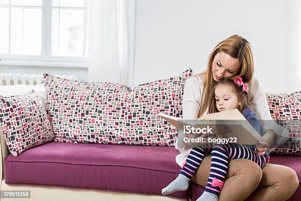
<instances>
[{"instance_id":1,"label":"little girl's brown hair, beneath the pink flower clip","mask_svg":"<svg viewBox=\"0 0 301 201\"><path fill-rule=\"evenodd\" d=\"M241 102L241 104L239 105L239 110L240 112L242 112L242 110L245 107L249 107L250 109L254 110L254 107L252 106L251 102L250 102L250 95L249 93L246 92L242 92L242 86L238 86L237 84L235 84L235 82L232 79L228 79L228 78L222 78L220 79L219 82L216 82L215 85L213 86L210 95L209 95L209 107L208 107L208 113L215 113L218 112L217 107L216 107L216 101L214 98L214 90L216 89L216 87L221 86L221 85L228 85L229 87L231 87L231 89L233 90L233 93L237 95L238 97L238 101Z\"/></svg>"}]
</instances>

